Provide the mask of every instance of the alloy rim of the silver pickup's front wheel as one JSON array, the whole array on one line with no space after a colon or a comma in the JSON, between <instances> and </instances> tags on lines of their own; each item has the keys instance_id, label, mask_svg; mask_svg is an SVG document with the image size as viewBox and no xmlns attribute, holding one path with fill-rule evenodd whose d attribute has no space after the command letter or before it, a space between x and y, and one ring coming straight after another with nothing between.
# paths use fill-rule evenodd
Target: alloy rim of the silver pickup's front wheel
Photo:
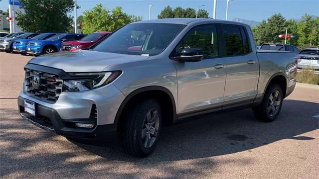
<instances>
[{"instance_id":1,"label":"alloy rim of the silver pickup's front wheel","mask_svg":"<svg viewBox=\"0 0 319 179\"><path fill-rule=\"evenodd\" d=\"M152 147L159 133L160 116L158 110L150 109L144 117L142 127L142 142L145 148Z\"/></svg>"}]
</instances>

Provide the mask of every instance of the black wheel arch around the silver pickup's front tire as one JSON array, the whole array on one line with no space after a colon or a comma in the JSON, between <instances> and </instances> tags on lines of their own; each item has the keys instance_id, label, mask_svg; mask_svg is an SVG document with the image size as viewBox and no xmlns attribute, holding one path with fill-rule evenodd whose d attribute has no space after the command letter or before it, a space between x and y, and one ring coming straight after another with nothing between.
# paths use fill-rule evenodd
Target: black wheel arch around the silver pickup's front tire
<instances>
[{"instance_id":1,"label":"black wheel arch around the silver pickup's front tire","mask_svg":"<svg viewBox=\"0 0 319 179\"><path fill-rule=\"evenodd\" d=\"M125 97L115 117L114 124L117 126L117 129L120 129L122 126L123 112L127 111L134 101L146 96L155 97L159 100L162 111L164 111L162 113L164 125L171 125L176 121L176 104L172 93L164 87L149 86L136 89Z\"/></svg>"}]
</instances>

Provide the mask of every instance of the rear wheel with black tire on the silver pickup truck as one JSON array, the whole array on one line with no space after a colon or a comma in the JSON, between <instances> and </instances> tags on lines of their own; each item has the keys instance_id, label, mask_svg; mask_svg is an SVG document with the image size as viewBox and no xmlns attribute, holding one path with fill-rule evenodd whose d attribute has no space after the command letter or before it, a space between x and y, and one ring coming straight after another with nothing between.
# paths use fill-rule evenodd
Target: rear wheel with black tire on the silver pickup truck
<instances>
[{"instance_id":1,"label":"rear wheel with black tire on the silver pickup truck","mask_svg":"<svg viewBox=\"0 0 319 179\"><path fill-rule=\"evenodd\" d=\"M277 97L276 91L279 93ZM271 100L271 95L273 100ZM261 104L253 108L255 117L264 122L274 121L280 113L283 99L284 96L281 87L277 84L271 84L266 90Z\"/></svg>"}]
</instances>

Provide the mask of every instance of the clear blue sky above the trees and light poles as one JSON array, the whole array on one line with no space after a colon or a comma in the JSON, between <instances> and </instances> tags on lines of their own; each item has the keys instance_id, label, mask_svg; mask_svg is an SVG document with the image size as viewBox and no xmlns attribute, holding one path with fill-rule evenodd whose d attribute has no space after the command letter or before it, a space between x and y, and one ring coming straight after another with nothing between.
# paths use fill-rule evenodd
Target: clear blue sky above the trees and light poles
<instances>
[{"instance_id":1,"label":"clear blue sky above the trees and light poles","mask_svg":"<svg viewBox=\"0 0 319 179\"><path fill-rule=\"evenodd\" d=\"M212 16L213 0L77 0L81 6L78 14L81 15L85 10L93 8L96 4L102 3L104 7L112 9L118 5L123 7L123 11L128 14L142 16L143 19L149 18L149 4L152 7L152 18L157 18L160 11L170 5L172 8L181 6L183 8L204 4L201 7ZM6 10L8 0L0 2L0 9ZM287 19L299 19L303 14L319 15L319 0L234 0L229 2L228 19L243 18L247 20L261 21L267 19L274 13L282 13ZM224 19L226 11L226 0L217 0L217 19ZM72 14L73 15L73 14Z\"/></svg>"}]
</instances>

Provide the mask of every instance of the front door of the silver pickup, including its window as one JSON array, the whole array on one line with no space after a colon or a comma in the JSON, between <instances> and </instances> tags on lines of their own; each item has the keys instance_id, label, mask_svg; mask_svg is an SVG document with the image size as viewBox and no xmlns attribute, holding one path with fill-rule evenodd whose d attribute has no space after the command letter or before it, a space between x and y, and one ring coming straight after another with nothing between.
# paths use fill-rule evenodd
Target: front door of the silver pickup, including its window
<instances>
[{"instance_id":1,"label":"front door of the silver pickup, including its window","mask_svg":"<svg viewBox=\"0 0 319 179\"><path fill-rule=\"evenodd\" d=\"M223 60L218 58L220 39L217 29L214 24L195 26L172 52L174 56L180 56L184 48L200 48L204 56L199 62L175 62L178 113L222 107L226 68Z\"/></svg>"}]
</instances>

